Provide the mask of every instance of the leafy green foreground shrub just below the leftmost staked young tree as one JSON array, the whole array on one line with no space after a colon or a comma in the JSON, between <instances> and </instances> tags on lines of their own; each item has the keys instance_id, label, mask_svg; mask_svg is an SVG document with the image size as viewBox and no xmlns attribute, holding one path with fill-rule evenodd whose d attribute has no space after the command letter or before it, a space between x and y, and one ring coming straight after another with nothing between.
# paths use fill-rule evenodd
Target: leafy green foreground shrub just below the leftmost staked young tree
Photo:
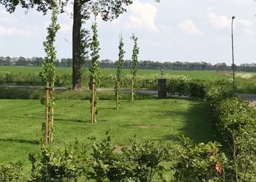
<instances>
[{"instance_id":1,"label":"leafy green foreground shrub just below the leftmost staked young tree","mask_svg":"<svg viewBox=\"0 0 256 182\"><path fill-rule=\"evenodd\" d=\"M87 149L75 141L64 150L51 151L41 146L41 154L29 153L31 179L29 181L78 181L86 179Z\"/></svg>"}]
</instances>

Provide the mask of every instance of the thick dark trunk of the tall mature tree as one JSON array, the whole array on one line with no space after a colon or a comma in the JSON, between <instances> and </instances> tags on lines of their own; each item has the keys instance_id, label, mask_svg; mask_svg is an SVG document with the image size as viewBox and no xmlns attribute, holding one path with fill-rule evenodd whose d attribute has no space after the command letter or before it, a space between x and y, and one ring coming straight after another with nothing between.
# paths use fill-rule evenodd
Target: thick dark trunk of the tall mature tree
<instances>
[{"instance_id":1,"label":"thick dark trunk of the tall mature tree","mask_svg":"<svg viewBox=\"0 0 256 182\"><path fill-rule=\"evenodd\" d=\"M80 30L82 27L81 16L82 0L74 0L73 34L72 34L72 88L79 90L82 87L80 74L79 46Z\"/></svg>"}]
</instances>

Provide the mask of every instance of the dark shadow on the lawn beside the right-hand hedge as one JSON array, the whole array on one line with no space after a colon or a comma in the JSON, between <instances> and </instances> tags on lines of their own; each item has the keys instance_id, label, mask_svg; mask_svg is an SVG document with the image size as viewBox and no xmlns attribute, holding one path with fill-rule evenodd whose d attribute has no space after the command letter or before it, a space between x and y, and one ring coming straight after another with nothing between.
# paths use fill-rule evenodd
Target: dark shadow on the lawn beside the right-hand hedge
<instances>
[{"instance_id":1,"label":"dark shadow on the lawn beside the right-hand hedge","mask_svg":"<svg viewBox=\"0 0 256 182\"><path fill-rule=\"evenodd\" d=\"M188 110L162 112L165 116L182 116L184 126L178 129L180 134L189 137L195 143L207 143L214 141L214 126L210 119L210 108L204 102L194 102ZM163 141L179 141L176 134L168 134L163 137Z\"/></svg>"}]
</instances>

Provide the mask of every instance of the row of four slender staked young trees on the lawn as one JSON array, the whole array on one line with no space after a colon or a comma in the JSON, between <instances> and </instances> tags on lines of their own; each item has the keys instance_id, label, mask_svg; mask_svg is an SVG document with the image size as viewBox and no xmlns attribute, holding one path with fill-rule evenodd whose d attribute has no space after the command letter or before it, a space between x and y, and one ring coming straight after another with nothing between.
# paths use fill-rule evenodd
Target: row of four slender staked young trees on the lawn
<instances>
[{"instance_id":1,"label":"row of four slender staked young trees on the lawn","mask_svg":"<svg viewBox=\"0 0 256 182\"><path fill-rule=\"evenodd\" d=\"M42 77L42 82L46 84L46 100L43 100L43 104L46 106L46 122L43 125L44 128L44 138L45 143L50 143L53 141L53 131L54 131L54 106L55 106L55 96L54 96L54 87L56 82L56 70L54 66L54 60L56 59L56 50L54 48L54 42L56 39L56 33L60 29L60 25L57 23L57 17L59 13L60 2L55 0L52 2L52 23L48 26L48 35L46 37L46 41L44 41L44 50L46 52L46 58L44 58L42 62L42 67L44 69L43 72L40 73ZM95 22L92 23L92 38L88 36L87 31L83 31L84 34L82 39L82 50L80 50L80 56L82 60L86 58L90 60L90 82L89 88L91 90L91 113L92 113L92 123L96 122L96 114L97 114L97 86L99 85L99 41L98 41L98 31L97 31L97 23L96 17L97 12L94 12ZM88 39L89 42L84 41ZM131 39L134 41L133 47L133 55L132 55L132 64L133 67L131 69L131 100L133 100L134 90L133 85L135 83L135 77L137 74L137 62L138 62L138 54L139 48L137 46L137 37L133 34ZM117 109L120 106L120 92L121 92L121 78L122 78L122 69L123 69L123 54L125 54L123 50L123 38L120 38L119 43L119 68L117 69L117 85L116 85L116 94L117 96ZM89 56L90 55L90 56ZM81 69L81 68L80 68Z\"/></svg>"}]
</instances>

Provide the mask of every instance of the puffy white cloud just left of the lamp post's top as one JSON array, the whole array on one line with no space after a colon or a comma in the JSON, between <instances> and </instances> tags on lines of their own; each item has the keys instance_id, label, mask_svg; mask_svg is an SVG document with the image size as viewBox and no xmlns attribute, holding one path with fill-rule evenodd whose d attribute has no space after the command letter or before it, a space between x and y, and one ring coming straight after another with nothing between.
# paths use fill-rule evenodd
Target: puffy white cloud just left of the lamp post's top
<instances>
[{"instance_id":1,"label":"puffy white cloud just left of the lamp post's top","mask_svg":"<svg viewBox=\"0 0 256 182\"><path fill-rule=\"evenodd\" d=\"M231 18L225 15L216 15L214 11L210 11L208 12L207 18L217 29L231 27Z\"/></svg>"}]
</instances>

